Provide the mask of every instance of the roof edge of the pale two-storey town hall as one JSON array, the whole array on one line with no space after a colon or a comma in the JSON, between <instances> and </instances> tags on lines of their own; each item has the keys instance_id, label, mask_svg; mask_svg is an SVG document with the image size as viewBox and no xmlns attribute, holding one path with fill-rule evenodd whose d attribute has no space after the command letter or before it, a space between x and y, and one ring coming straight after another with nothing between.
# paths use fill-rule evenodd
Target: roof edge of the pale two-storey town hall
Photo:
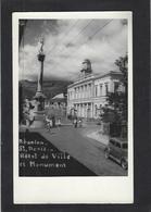
<instances>
[{"instance_id":1,"label":"roof edge of the pale two-storey town hall","mask_svg":"<svg viewBox=\"0 0 151 212\"><path fill-rule=\"evenodd\" d=\"M118 71L110 71L108 72L106 74L89 74L87 76L85 76L84 78L79 79L79 80L76 80L75 83L71 84L67 86L67 88L71 88L75 85L78 85L78 84L81 84L81 83L86 83L86 82L89 82L89 80L95 80L95 79L98 79L98 78L104 78L106 76L113 76L113 75L122 75L121 72Z\"/></svg>"}]
</instances>

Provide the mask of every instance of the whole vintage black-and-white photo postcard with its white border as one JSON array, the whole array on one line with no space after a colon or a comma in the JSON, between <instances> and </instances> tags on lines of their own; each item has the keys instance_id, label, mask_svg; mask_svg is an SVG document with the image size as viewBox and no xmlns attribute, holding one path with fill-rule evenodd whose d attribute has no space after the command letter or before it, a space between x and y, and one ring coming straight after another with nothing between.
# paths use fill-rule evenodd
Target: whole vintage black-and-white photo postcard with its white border
<instances>
[{"instance_id":1,"label":"whole vintage black-and-white photo postcard with its white border","mask_svg":"<svg viewBox=\"0 0 151 212\"><path fill-rule=\"evenodd\" d=\"M14 203L133 203L131 23L12 14Z\"/></svg>"}]
</instances>

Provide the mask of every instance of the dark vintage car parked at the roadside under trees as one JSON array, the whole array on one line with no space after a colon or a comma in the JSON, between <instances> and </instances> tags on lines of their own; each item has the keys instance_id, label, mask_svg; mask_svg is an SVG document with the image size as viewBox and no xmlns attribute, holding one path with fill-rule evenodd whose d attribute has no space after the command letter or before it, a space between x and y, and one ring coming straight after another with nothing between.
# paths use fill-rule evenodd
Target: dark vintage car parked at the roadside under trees
<instances>
[{"instance_id":1,"label":"dark vintage car parked at the roadside under trees","mask_svg":"<svg viewBox=\"0 0 151 212\"><path fill-rule=\"evenodd\" d=\"M127 161L127 148L128 144L127 140L124 138L110 138L109 145L104 149L105 158L112 158L117 163L121 164L121 166L124 170L128 169L128 161Z\"/></svg>"}]
</instances>

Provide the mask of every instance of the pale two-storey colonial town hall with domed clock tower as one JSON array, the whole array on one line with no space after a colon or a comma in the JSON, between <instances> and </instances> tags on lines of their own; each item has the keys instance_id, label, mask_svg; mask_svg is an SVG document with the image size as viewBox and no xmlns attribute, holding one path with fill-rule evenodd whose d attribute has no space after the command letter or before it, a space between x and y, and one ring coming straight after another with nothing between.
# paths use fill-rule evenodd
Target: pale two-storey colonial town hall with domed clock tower
<instances>
[{"instance_id":1,"label":"pale two-storey colonial town hall with domed clock tower","mask_svg":"<svg viewBox=\"0 0 151 212\"><path fill-rule=\"evenodd\" d=\"M95 75L89 60L83 62L80 73L80 78L67 87L67 114L98 119L101 108L108 103L108 93L124 90L119 83L122 74L111 71Z\"/></svg>"}]
</instances>

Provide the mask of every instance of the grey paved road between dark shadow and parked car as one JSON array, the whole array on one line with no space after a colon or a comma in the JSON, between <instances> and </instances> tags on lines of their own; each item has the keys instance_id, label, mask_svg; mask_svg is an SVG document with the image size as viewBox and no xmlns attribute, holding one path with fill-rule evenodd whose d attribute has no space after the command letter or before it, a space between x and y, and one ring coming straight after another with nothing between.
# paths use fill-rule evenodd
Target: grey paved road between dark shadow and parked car
<instances>
[{"instance_id":1,"label":"grey paved road between dark shadow and parked car","mask_svg":"<svg viewBox=\"0 0 151 212\"><path fill-rule=\"evenodd\" d=\"M127 171L124 171L114 161L104 158L104 146L101 142L85 136L87 132L92 132L97 127L88 125L83 128L73 128L68 125L53 128L51 133L47 129L38 132L61 151L68 152L99 176L127 175Z\"/></svg>"}]
</instances>

